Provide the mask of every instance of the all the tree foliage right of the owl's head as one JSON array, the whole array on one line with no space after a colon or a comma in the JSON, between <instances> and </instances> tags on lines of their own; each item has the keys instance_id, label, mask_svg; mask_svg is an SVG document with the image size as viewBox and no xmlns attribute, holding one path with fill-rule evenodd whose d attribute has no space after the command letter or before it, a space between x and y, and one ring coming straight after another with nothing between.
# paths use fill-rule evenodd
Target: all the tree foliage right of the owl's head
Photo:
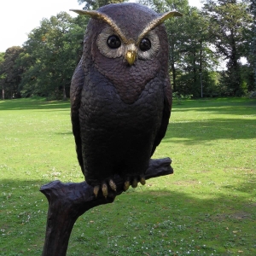
<instances>
[{"instance_id":1,"label":"all the tree foliage right of the owl's head","mask_svg":"<svg viewBox=\"0 0 256 256\"><path fill-rule=\"evenodd\" d=\"M157 12L176 9L182 18L166 20L170 44L170 67L174 91L181 94L201 96L201 84L207 95L218 95L219 86L224 95L241 96L251 87L247 75L241 70L241 56L247 51L249 35L252 31L251 15L247 3L235 0L205 1L203 12L189 7L186 0L160 1L141 0ZM212 72L219 62L227 60L227 70L222 77ZM203 79L201 83L201 79ZM248 83L249 82L249 83Z\"/></svg>"}]
</instances>

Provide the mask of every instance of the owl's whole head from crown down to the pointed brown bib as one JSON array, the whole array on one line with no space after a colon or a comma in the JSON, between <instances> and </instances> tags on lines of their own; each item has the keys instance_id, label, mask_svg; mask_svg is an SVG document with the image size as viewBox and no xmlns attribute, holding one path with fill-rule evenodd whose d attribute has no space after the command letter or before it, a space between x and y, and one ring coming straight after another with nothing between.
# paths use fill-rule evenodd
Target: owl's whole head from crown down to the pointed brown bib
<instances>
[{"instance_id":1,"label":"owl's whole head from crown down to the pointed brown bib","mask_svg":"<svg viewBox=\"0 0 256 256\"><path fill-rule=\"evenodd\" d=\"M168 79L168 42L164 15L138 3L108 4L90 15L84 36L84 71L93 68L118 90L123 102L136 102L152 79ZM95 74L95 73L94 73Z\"/></svg>"}]
</instances>

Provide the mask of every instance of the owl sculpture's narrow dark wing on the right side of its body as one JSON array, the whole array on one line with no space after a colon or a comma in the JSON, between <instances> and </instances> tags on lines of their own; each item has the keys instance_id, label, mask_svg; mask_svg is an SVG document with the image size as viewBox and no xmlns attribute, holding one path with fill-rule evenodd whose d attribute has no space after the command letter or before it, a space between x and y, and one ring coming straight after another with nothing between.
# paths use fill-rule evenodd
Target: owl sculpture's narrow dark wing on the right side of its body
<instances>
[{"instance_id":1,"label":"owl sculpture's narrow dark wing on the right side of its body","mask_svg":"<svg viewBox=\"0 0 256 256\"><path fill-rule=\"evenodd\" d=\"M165 137L166 135L167 126L169 124L169 119L171 115L171 110L172 110L172 87L168 79L164 87L164 109L163 109L162 122L160 125L160 129L154 139L151 156L154 154L154 150L160 144L162 138Z\"/></svg>"}]
</instances>

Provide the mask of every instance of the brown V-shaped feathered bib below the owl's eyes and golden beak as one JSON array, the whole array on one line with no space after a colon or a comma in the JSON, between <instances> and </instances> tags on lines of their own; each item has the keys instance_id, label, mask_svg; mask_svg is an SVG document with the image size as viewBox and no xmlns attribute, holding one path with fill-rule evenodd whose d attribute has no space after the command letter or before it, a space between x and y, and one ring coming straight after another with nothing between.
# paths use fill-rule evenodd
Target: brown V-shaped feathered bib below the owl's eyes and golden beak
<instances>
[{"instance_id":1,"label":"brown V-shaped feathered bib below the owl's eyes and golden beak","mask_svg":"<svg viewBox=\"0 0 256 256\"><path fill-rule=\"evenodd\" d=\"M148 90L147 84L160 73L160 61L158 59L143 61L137 60L131 66L124 57L107 58L98 50L92 54L94 73L98 73L114 86L122 102L132 104L137 102L143 91Z\"/></svg>"}]
</instances>

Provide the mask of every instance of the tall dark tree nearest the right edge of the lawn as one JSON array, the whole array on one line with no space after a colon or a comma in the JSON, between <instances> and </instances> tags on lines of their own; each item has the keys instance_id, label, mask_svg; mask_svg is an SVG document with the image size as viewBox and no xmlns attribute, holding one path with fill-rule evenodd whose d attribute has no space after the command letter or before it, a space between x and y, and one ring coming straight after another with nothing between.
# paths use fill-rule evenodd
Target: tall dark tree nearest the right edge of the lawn
<instances>
[{"instance_id":1,"label":"tall dark tree nearest the right edge of the lawn","mask_svg":"<svg viewBox=\"0 0 256 256\"><path fill-rule=\"evenodd\" d=\"M243 33L249 29L252 21L247 14L247 4L238 0L206 0L203 10L210 20L210 42L227 61L223 83L230 95L241 96L240 58L244 55L247 44Z\"/></svg>"}]
</instances>

